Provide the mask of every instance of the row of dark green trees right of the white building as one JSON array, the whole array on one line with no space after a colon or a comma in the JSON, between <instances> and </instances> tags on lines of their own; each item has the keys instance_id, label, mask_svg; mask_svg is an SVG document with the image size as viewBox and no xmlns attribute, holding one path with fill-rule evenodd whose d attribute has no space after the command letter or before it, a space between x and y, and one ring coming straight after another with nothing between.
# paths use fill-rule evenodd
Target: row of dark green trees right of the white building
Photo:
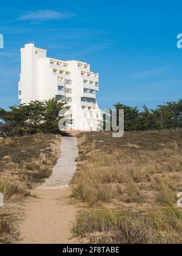
<instances>
[{"instance_id":1,"label":"row of dark green trees right of the white building","mask_svg":"<svg viewBox=\"0 0 182 256\"><path fill-rule=\"evenodd\" d=\"M116 110L124 109L124 130L161 130L182 127L182 99L177 102L166 102L158 105L155 110L143 105L143 111L138 107L129 107L117 103Z\"/></svg>"}]
</instances>

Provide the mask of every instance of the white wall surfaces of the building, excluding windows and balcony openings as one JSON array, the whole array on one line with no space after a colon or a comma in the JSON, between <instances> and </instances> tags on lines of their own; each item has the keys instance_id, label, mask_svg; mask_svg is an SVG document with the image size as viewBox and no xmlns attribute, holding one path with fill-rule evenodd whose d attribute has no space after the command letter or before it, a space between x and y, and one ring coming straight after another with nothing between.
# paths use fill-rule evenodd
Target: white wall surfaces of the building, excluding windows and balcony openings
<instances>
[{"instance_id":1,"label":"white wall surfaces of the building, excluding windows and balcony openings","mask_svg":"<svg viewBox=\"0 0 182 256\"><path fill-rule=\"evenodd\" d=\"M68 66L57 66L50 64L50 59L46 57L44 49L35 48L34 44L25 44L25 48L21 49L21 75L19 82L19 90L21 90L21 103L30 101L44 101L54 98L58 94L58 76L64 79L72 80L72 85L66 85L72 88L72 93L66 93L67 97L72 98L71 106L73 129L78 130L96 130L97 118L96 114L100 114L98 104L90 102L81 102L81 97L95 98L95 94L84 93L85 88L98 90L95 85L84 84L83 80L93 80L98 82L98 77L82 76L81 71L90 71L90 65L87 68L79 67L78 61L65 62ZM55 60L59 61L59 60ZM60 60L61 62L61 60ZM63 62L63 61L62 61ZM70 76L66 74L53 73L53 68L70 71ZM64 85L62 81L60 85ZM84 108L83 108L84 106ZM90 115L92 112L92 115ZM79 115L79 116L78 116Z\"/></svg>"}]
</instances>

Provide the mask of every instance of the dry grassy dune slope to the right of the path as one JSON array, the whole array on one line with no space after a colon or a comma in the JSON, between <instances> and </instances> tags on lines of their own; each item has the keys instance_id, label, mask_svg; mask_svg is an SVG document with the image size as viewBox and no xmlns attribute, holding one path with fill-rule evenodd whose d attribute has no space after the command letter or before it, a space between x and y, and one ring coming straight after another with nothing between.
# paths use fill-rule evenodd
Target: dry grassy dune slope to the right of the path
<instances>
[{"instance_id":1,"label":"dry grassy dune slope to the right of the path","mask_svg":"<svg viewBox=\"0 0 182 256\"><path fill-rule=\"evenodd\" d=\"M181 243L182 132L82 133L73 233L93 243Z\"/></svg>"}]
</instances>

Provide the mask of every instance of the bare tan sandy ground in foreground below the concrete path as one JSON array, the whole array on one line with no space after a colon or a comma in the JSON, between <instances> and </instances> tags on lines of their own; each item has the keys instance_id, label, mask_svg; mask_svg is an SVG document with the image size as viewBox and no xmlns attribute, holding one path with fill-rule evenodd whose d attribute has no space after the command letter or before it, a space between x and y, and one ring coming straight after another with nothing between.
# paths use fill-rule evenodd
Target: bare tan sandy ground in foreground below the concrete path
<instances>
[{"instance_id":1,"label":"bare tan sandy ground in foreground below the concrete path","mask_svg":"<svg viewBox=\"0 0 182 256\"><path fill-rule=\"evenodd\" d=\"M21 243L76 243L70 233L76 213L76 207L70 203L70 188L34 190L32 194L36 197L30 197L24 205L25 218L20 225Z\"/></svg>"}]
</instances>

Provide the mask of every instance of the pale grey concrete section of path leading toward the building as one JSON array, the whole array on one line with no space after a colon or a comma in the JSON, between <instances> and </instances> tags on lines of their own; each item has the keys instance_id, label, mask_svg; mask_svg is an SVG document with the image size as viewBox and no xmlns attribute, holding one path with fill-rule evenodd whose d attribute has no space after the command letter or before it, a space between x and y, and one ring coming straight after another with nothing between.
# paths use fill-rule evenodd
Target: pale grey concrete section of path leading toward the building
<instances>
[{"instance_id":1,"label":"pale grey concrete section of path leading toward the building","mask_svg":"<svg viewBox=\"0 0 182 256\"><path fill-rule=\"evenodd\" d=\"M61 156L58 158L52 176L39 186L38 190L56 190L69 187L76 172L78 143L75 137L62 137Z\"/></svg>"}]
</instances>

